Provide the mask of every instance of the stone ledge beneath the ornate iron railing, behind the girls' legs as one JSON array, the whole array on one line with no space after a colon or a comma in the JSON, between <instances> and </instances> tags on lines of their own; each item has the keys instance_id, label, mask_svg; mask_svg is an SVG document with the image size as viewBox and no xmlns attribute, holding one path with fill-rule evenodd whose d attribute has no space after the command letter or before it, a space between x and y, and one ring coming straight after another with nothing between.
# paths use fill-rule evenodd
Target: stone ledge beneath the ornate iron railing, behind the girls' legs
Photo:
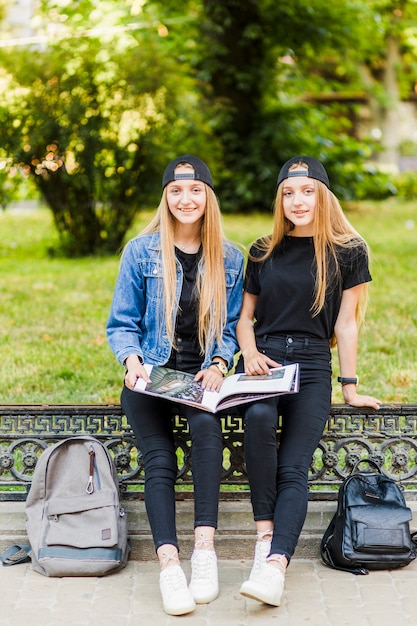
<instances>
[{"instance_id":1,"label":"stone ledge beneath the ornate iron railing, behind the girls' legs","mask_svg":"<svg viewBox=\"0 0 417 626\"><path fill-rule=\"evenodd\" d=\"M123 503L129 516L132 560L150 561L155 552L143 501ZM407 505L413 512L411 528L417 528L417 501ZM193 549L193 502L177 502L177 527L181 552L189 558ZM318 558L320 541L336 510L336 502L309 502L308 513L295 553L296 558ZM27 543L24 502L0 503L0 551L15 543ZM254 523L248 500L221 501L216 551L220 559L251 559Z\"/></svg>"}]
</instances>

